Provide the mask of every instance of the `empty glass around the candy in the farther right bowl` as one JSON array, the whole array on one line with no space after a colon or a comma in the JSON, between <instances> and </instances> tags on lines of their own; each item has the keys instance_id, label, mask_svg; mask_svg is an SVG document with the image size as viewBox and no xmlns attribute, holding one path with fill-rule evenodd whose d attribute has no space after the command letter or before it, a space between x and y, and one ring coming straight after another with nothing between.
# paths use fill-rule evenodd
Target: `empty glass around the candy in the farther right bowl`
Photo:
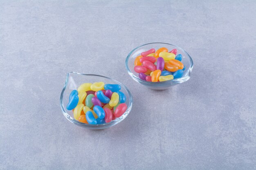
<instances>
[{"instance_id":1,"label":"empty glass around the candy in the farther right bowl","mask_svg":"<svg viewBox=\"0 0 256 170\"><path fill-rule=\"evenodd\" d=\"M144 51L148 51L149 49L157 50L161 47L166 47L168 49L168 51L171 51L172 49L177 49L177 54L182 55L182 63L186 67L186 69L184 70L183 76L181 78L172 79L172 80L168 80L168 81L164 81L164 82L147 82L147 81L140 79L138 77L139 73L136 73L134 71L135 58ZM136 82L138 82L148 88L154 89L154 90L164 90L164 89L170 88L171 86L174 86L176 84L180 84L180 83L188 81L190 78L192 68L193 68L193 60L190 57L190 55L186 51L181 49L180 47L172 45L172 44L168 44L168 43L153 42L153 43L144 44L142 46L138 46L135 49L133 49L126 57L126 70L128 71L129 75L132 77L132 79L134 79Z\"/></svg>"}]
</instances>

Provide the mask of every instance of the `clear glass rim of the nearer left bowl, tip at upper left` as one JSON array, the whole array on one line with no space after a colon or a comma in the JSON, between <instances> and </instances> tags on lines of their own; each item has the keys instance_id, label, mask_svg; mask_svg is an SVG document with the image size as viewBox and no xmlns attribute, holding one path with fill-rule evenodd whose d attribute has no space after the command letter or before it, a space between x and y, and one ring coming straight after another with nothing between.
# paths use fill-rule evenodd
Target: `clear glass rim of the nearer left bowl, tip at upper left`
<instances>
[{"instance_id":1,"label":"clear glass rim of the nearer left bowl, tip at upper left","mask_svg":"<svg viewBox=\"0 0 256 170\"><path fill-rule=\"evenodd\" d=\"M126 112L121 117L118 117L115 120L112 120L111 122L105 123L105 124L96 124L96 125L85 124L85 123L82 123L82 122L77 121L76 119L72 118L66 112L64 104L63 104L63 93L64 93L64 91L67 87L68 77L72 73L78 74L78 75L85 75L85 76L90 75L90 76L103 77L103 78L106 78L106 79L110 79L111 81L116 82L117 84L120 84L127 91L128 95L129 95L129 105L127 106ZM122 84L122 83L118 82L117 80L112 79L110 77L106 77L106 76L103 76L103 75L96 75L96 74L83 74L83 73L77 73L77 72L70 72L70 73L67 73L65 85L64 85L64 87L61 91L60 104L61 104L61 110L62 110L63 115L66 117L66 119L68 119L73 124L76 124L78 126L82 126L84 128L102 129L102 128L108 128L108 127L114 126L114 125L120 123L122 120L124 120L128 116L128 114L130 113L130 110L132 108L132 94L130 93L129 89L126 86L124 86L124 84Z\"/></svg>"}]
</instances>

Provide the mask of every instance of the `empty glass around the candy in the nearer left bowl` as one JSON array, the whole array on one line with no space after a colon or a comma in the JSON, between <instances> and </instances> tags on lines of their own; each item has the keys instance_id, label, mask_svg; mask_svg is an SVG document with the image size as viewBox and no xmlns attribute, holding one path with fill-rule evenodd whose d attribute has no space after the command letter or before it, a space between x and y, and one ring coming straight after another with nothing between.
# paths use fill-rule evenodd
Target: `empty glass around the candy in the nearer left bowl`
<instances>
[{"instance_id":1,"label":"empty glass around the candy in the nearer left bowl","mask_svg":"<svg viewBox=\"0 0 256 170\"><path fill-rule=\"evenodd\" d=\"M76 90L83 83L94 83L94 82L104 82L105 84L121 85L121 92L123 92L126 95L126 104L127 104L126 112L121 117L118 117L115 120L112 120L111 122L105 123L105 124L97 124L97 125L84 124L73 118L72 110L66 110L66 106L67 106L67 103L69 102L68 100L69 100L69 95L71 91ZM61 103L61 110L63 112L63 115L73 124L76 124L78 126L81 126L83 128L88 128L88 129L105 129L118 124L119 122L121 122L127 117L127 115L130 113L130 110L132 109L132 95L126 86L109 77L105 77L102 75L81 74L81 73L70 72L70 73L67 73L65 86L61 92L60 103Z\"/></svg>"}]
</instances>

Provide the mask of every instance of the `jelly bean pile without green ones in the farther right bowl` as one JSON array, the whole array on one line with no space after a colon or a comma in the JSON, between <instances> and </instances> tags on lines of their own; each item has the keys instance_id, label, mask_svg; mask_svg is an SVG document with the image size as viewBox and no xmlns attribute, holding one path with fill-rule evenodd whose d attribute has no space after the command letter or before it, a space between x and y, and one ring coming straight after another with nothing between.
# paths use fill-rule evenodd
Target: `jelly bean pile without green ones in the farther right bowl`
<instances>
[{"instance_id":1,"label":"jelly bean pile without green ones in the farther right bowl","mask_svg":"<svg viewBox=\"0 0 256 170\"><path fill-rule=\"evenodd\" d=\"M139 78L148 82L163 82L180 78L185 66L182 64L182 55L177 54L177 49L168 52L162 47L155 51L150 49L137 56L134 61L134 71L139 73Z\"/></svg>"}]
</instances>

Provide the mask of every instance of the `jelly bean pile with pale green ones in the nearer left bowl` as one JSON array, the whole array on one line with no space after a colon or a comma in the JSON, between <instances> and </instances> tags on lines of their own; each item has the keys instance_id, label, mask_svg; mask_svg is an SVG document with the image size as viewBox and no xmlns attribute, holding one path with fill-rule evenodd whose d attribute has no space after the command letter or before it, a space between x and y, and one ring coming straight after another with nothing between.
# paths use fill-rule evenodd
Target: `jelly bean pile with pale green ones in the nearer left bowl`
<instances>
[{"instance_id":1,"label":"jelly bean pile with pale green ones in the nearer left bowl","mask_svg":"<svg viewBox=\"0 0 256 170\"><path fill-rule=\"evenodd\" d=\"M84 83L70 93L67 110L85 124L105 124L121 117L127 109L126 95L119 84Z\"/></svg>"}]
</instances>

